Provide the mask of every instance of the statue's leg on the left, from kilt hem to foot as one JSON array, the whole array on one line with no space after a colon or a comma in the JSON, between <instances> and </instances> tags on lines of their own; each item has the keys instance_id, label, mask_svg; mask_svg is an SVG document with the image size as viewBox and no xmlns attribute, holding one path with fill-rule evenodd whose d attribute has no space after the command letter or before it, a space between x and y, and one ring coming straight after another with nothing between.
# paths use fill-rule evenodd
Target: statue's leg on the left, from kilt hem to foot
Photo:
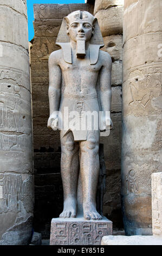
<instances>
[{"instance_id":1,"label":"statue's leg on the left, from kilt hem to foot","mask_svg":"<svg viewBox=\"0 0 162 256\"><path fill-rule=\"evenodd\" d=\"M75 218L77 207L77 179L79 173L79 143L72 131L61 138L61 176L63 184L63 212L60 218Z\"/></svg>"}]
</instances>

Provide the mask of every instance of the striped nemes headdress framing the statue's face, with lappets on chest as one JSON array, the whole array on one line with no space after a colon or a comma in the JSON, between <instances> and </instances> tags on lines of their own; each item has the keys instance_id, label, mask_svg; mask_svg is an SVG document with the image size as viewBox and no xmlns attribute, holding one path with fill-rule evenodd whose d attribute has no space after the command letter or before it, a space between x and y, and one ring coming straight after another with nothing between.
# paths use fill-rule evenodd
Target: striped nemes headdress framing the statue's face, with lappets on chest
<instances>
[{"instance_id":1,"label":"striped nemes headdress framing the statue's face, with lappets on chest","mask_svg":"<svg viewBox=\"0 0 162 256\"><path fill-rule=\"evenodd\" d=\"M88 11L77 10L70 13L67 17L64 17L56 39L56 45L59 45L62 48L65 62L72 64L71 47L69 44L70 38L67 35L67 24L79 20L88 21L94 26L94 33L90 39L89 45L90 64L94 65L98 62L99 50L104 46L104 43L98 20L92 14L88 13Z\"/></svg>"}]
</instances>

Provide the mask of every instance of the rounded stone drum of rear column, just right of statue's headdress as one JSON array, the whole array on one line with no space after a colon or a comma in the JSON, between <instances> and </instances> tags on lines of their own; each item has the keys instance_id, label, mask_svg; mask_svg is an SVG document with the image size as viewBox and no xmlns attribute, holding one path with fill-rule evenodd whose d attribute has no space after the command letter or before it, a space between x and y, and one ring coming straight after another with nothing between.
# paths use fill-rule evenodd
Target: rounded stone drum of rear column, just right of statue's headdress
<instances>
[{"instance_id":1,"label":"rounded stone drum of rear column, just right of statue's headdress","mask_svg":"<svg viewBox=\"0 0 162 256\"><path fill-rule=\"evenodd\" d=\"M112 7L100 10L95 14L99 21L102 36L122 34L123 7Z\"/></svg>"}]
</instances>

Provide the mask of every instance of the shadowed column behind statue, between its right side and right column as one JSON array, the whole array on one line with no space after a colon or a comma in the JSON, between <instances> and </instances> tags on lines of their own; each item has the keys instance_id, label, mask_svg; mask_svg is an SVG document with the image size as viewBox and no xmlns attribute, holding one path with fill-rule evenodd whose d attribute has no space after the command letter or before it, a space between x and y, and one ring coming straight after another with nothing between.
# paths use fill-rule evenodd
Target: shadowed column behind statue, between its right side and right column
<instances>
[{"instance_id":1,"label":"shadowed column behind statue, between its right side and right column","mask_svg":"<svg viewBox=\"0 0 162 256\"><path fill-rule=\"evenodd\" d=\"M105 47L101 50L112 57L112 107L113 130L109 137L100 137L104 144L107 169L107 190L103 215L122 228L120 204L121 190L121 103L122 103L122 15L124 0L96 0L94 15L99 21Z\"/></svg>"}]
</instances>

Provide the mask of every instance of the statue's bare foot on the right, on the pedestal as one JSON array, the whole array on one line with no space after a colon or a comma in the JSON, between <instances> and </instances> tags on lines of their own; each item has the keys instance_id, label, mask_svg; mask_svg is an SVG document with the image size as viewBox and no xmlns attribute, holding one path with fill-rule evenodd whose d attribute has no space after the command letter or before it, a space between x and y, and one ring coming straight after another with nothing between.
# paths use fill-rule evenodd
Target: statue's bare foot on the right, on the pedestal
<instances>
[{"instance_id":1,"label":"statue's bare foot on the right, on the pedestal","mask_svg":"<svg viewBox=\"0 0 162 256\"><path fill-rule=\"evenodd\" d=\"M84 212L84 218L86 220L101 220L102 216L96 211L96 208L93 204L83 204L83 212Z\"/></svg>"}]
</instances>

